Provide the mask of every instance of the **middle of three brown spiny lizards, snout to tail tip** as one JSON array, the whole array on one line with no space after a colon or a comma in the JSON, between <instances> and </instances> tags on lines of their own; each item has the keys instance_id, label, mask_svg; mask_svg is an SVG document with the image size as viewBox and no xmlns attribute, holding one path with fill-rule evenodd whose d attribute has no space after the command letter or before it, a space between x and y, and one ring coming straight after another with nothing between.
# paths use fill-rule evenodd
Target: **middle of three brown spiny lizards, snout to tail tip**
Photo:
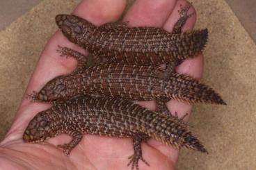
<instances>
[{"instance_id":1,"label":"middle of three brown spiny lizards, snout to tail tip","mask_svg":"<svg viewBox=\"0 0 256 170\"><path fill-rule=\"evenodd\" d=\"M189 76L161 67L122 63L103 63L58 76L29 98L61 101L77 94L104 94L138 101L176 99L187 103L225 104L214 90Z\"/></svg>"}]
</instances>

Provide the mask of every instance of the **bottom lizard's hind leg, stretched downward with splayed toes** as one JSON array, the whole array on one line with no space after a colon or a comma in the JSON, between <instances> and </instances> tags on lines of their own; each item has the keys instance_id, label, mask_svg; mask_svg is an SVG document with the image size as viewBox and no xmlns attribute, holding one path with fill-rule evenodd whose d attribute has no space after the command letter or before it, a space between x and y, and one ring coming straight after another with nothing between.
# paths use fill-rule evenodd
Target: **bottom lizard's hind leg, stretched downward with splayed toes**
<instances>
[{"instance_id":1,"label":"bottom lizard's hind leg, stretched downward with splayed toes","mask_svg":"<svg viewBox=\"0 0 256 170\"><path fill-rule=\"evenodd\" d=\"M134 154L129 156L129 163L127 164L128 167L129 165L131 165L131 169L134 169L134 167L136 167L136 170L138 170L138 160L142 160L145 164L147 164L147 166L150 166L150 164L146 160L144 160L141 150L141 142L147 141L147 139L149 139L149 137L143 133L138 133L134 137Z\"/></svg>"}]
</instances>

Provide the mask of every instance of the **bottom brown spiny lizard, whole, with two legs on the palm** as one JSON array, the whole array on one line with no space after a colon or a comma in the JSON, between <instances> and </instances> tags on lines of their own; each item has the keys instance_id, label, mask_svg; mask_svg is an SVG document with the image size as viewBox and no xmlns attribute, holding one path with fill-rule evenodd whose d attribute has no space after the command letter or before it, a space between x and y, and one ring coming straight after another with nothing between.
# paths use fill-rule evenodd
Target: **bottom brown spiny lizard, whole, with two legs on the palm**
<instances>
[{"instance_id":1,"label":"bottom brown spiny lizard, whole, with two legs on the palm","mask_svg":"<svg viewBox=\"0 0 256 170\"><path fill-rule=\"evenodd\" d=\"M72 137L68 144L61 144L66 155L81 142L83 134L106 137L131 137L134 155L129 157L131 169L138 170L138 160L144 159L141 142L156 139L168 146L192 148L203 153L207 150L179 119L153 112L125 99L77 96L56 103L39 112L27 126L24 142L42 142L65 133Z\"/></svg>"}]
</instances>

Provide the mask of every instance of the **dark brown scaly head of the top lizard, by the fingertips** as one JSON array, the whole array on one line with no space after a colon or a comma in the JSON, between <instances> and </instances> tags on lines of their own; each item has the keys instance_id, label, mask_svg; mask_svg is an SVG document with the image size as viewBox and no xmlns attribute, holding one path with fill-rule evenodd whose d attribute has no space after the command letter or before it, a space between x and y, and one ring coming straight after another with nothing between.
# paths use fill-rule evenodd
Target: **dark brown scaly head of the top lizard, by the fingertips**
<instances>
[{"instance_id":1,"label":"dark brown scaly head of the top lizard, by the fingertips","mask_svg":"<svg viewBox=\"0 0 256 170\"><path fill-rule=\"evenodd\" d=\"M75 15L57 15L56 24L68 40L79 45L86 44L86 37L95 28L90 22Z\"/></svg>"}]
</instances>

